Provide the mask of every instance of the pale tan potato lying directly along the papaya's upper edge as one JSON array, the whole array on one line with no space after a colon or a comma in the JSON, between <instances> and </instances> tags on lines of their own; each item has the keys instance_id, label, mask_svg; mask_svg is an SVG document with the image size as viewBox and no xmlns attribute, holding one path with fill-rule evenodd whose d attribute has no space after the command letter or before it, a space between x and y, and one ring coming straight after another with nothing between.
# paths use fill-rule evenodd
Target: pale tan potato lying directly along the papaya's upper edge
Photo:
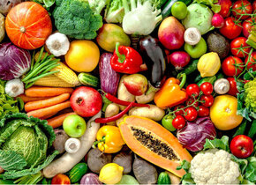
<instances>
[{"instance_id":1,"label":"pale tan potato lying directly along the papaya's upper edge","mask_svg":"<svg viewBox=\"0 0 256 185\"><path fill-rule=\"evenodd\" d=\"M154 121L161 121L163 116L165 115L164 110L162 108L157 107L155 105L149 105L150 107L133 107L129 111L129 115L138 115L142 117L147 117Z\"/></svg>"}]
</instances>

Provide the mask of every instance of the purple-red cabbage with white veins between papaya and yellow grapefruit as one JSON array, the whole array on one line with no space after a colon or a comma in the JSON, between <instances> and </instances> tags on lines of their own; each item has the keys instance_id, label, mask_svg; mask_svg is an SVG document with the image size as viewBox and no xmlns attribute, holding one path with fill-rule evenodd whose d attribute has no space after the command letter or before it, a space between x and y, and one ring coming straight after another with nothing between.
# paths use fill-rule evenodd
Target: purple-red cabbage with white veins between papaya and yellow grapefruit
<instances>
[{"instance_id":1,"label":"purple-red cabbage with white veins between papaya and yellow grapefruit","mask_svg":"<svg viewBox=\"0 0 256 185\"><path fill-rule=\"evenodd\" d=\"M177 139L189 151L198 152L204 148L206 139L214 139L216 130L209 117L200 117L194 122L186 122L183 129L177 130Z\"/></svg>"}]
</instances>

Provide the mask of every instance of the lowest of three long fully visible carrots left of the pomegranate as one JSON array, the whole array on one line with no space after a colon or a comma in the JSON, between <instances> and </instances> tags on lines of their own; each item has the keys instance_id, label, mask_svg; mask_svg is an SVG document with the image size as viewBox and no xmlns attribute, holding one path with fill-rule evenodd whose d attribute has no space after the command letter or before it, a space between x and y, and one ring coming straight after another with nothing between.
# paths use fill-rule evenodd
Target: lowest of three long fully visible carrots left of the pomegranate
<instances>
[{"instance_id":1,"label":"lowest of three long fully visible carrots left of the pomegranate","mask_svg":"<svg viewBox=\"0 0 256 185\"><path fill-rule=\"evenodd\" d=\"M30 112L26 113L26 115L28 115L28 116L32 115L34 117L41 118L41 117L45 117L46 115L51 115L51 114L56 115L57 112L63 110L64 108L67 108L67 107L71 107L71 102L69 100L67 100L63 103L56 104L54 106L44 107L44 108L30 111Z\"/></svg>"}]
</instances>

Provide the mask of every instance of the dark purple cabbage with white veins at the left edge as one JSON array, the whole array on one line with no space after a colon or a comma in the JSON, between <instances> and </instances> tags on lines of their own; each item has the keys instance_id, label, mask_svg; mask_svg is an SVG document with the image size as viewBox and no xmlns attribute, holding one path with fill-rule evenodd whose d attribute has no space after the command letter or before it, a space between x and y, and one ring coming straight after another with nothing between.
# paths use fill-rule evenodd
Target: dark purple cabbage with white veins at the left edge
<instances>
[{"instance_id":1,"label":"dark purple cabbage with white veins at the left edge","mask_svg":"<svg viewBox=\"0 0 256 185\"><path fill-rule=\"evenodd\" d=\"M30 69L31 55L11 42L0 44L0 78L19 78Z\"/></svg>"}]
</instances>

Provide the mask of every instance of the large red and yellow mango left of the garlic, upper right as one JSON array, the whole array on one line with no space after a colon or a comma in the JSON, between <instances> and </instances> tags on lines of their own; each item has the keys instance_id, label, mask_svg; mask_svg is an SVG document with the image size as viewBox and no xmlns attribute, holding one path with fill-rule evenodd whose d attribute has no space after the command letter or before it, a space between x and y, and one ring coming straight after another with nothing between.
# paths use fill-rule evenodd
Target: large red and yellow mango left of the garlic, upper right
<instances>
[{"instance_id":1,"label":"large red and yellow mango left of the garlic, upper right","mask_svg":"<svg viewBox=\"0 0 256 185\"><path fill-rule=\"evenodd\" d=\"M159 27L158 38L165 48L181 48L184 44L184 26L173 16L165 18Z\"/></svg>"}]
</instances>

